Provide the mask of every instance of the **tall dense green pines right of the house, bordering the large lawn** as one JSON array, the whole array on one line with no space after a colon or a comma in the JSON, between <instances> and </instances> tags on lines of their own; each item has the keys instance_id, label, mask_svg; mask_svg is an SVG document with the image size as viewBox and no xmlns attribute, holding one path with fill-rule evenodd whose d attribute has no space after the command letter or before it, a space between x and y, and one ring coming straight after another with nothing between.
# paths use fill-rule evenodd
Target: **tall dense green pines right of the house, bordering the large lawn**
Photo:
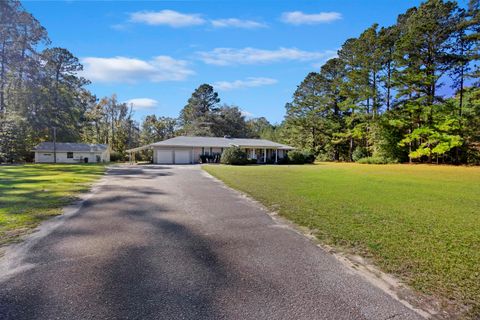
<instances>
[{"instance_id":1,"label":"tall dense green pines right of the house, bordering the large lawn","mask_svg":"<svg viewBox=\"0 0 480 320\"><path fill-rule=\"evenodd\" d=\"M479 12L429 0L348 39L297 87L279 136L324 160L480 163Z\"/></svg>"}]
</instances>

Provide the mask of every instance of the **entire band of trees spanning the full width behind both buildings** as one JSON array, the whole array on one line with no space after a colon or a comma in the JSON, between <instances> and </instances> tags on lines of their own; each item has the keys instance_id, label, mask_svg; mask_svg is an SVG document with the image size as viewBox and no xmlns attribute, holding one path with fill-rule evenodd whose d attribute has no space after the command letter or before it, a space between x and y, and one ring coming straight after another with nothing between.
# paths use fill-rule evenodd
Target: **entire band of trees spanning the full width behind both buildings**
<instances>
[{"instance_id":1,"label":"entire band of trees spanning the full width behind both buildings","mask_svg":"<svg viewBox=\"0 0 480 320\"><path fill-rule=\"evenodd\" d=\"M247 119L200 85L177 118L134 119L116 95L98 99L71 52L17 0L0 2L0 162L32 160L52 140L125 150L176 135L265 138L333 161L480 163L480 8L428 0L345 41L309 73L284 121ZM148 154L144 154L148 157Z\"/></svg>"}]
</instances>

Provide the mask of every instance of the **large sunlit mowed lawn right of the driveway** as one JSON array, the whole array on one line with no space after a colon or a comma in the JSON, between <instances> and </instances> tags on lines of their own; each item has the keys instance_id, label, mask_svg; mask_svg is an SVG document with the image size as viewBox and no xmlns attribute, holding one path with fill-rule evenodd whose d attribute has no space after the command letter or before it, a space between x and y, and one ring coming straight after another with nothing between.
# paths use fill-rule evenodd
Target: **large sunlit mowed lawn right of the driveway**
<instances>
[{"instance_id":1,"label":"large sunlit mowed lawn right of the driveway","mask_svg":"<svg viewBox=\"0 0 480 320\"><path fill-rule=\"evenodd\" d=\"M480 316L480 168L204 166L325 244Z\"/></svg>"}]
</instances>

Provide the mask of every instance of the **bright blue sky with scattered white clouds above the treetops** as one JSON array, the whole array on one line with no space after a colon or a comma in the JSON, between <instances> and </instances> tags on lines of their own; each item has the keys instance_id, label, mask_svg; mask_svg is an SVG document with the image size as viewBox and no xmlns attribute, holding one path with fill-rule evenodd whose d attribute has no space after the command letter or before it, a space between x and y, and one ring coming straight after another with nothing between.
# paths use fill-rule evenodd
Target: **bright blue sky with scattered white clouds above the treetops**
<instances>
[{"instance_id":1,"label":"bright blue sky with scattered white clouds above the treetops","mask_svg":"<svg viewBox=\"0 0 480 320\"><path fill-rule=\"evenodd\" d=\"M193 90L281 122L285 103L349 37L419 1L26 1L53 46L84 64L89 89L135 117L178 116Z\"/></svg>"}]
</instances>

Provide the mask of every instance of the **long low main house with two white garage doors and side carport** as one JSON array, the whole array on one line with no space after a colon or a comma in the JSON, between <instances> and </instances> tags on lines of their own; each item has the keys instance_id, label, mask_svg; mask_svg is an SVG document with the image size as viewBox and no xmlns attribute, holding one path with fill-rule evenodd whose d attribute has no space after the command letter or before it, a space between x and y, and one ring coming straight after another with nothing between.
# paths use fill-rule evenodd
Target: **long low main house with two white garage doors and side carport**
<instances>
[{"instance_id":1,"label":"long low main house with two white garage doors and side carport","mask_svg":"<svg viewBox=\"0 0 480 320\"><path fill-rule=\"evenodd\" d=\"M277 162L293 147L265 139L244 139L225 137L186 137L152 143L143 147L127 150L130 159L135 152L153 150L153 163L157 164L189 164L199 163L201 155L221 154L225 148L239 147L247 153L249 159L258 163Z\"/></svg>"}]
</instances>

